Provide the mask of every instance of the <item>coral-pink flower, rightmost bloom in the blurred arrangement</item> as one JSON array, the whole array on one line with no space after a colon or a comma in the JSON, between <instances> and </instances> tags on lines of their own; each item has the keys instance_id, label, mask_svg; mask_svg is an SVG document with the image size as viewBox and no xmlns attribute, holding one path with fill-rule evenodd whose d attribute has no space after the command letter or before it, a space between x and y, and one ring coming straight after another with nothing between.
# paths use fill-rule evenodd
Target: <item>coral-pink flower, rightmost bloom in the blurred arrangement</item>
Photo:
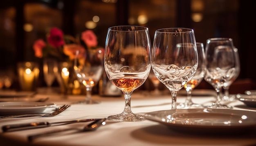
<instances>
[{"instance_id":1,"label":"coral-pink flower, rightmost bloom in the blurred arrangement","mask_svg":"<svg viewBox=\"0 0 256 146\"><path fill-rule=\"evenodd\" d=\"M91 30L83 31L81 34L81 39L88 47L94 47L98 44L97 36Z\"/></svg>"}]
</instances>

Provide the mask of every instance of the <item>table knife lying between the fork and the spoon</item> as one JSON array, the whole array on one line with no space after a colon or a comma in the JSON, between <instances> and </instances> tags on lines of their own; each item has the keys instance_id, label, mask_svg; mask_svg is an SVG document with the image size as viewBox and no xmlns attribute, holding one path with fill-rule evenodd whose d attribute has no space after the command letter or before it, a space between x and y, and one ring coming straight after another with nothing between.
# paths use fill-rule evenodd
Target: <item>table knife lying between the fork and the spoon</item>
<instances>
[{"instance_id":1,"label":"table knife lying between the fork and the spoon","mask_svg":"<svg viewBox=\"0 0 256 146\"><path fill-rule=\"evenodd\" d=\"M72 124L72 123L78 123L78 122L88 122L88 121L95 121L99 119L78 119L78 120L72 120L72 121L63 121L63 122L31 122L31 123L25 123L25 124L10 124L10 125L4 125L2 126L3 132L9 132L9 131L19 131L19 130L27 130L27 129L33 129L33 128L43 128L43 127L49 127L49 126L58 126L63 124Z\"/></svg>"}]
</instances>

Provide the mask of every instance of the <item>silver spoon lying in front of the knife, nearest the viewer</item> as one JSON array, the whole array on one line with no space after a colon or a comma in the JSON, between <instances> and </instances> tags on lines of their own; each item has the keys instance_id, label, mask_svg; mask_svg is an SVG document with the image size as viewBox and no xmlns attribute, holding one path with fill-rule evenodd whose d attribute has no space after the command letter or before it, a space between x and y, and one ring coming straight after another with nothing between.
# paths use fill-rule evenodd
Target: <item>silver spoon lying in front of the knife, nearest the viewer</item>
<instances>
[{"instance_id":1,"label":"silver spoon lying in front of the knife, nearest the viewer","mask_svg":"<svg viewBox=\"0 0 256 146\"><path fill-rule=\"evenodd\" d=\"M94 122L86 125L82 130L79 129L79 131L81 131L81 132L94 131L97 128L99 128L101 125L105 125L106 124L105 120L106 120L106 118L95 120ZM49 136L49 135L53 135L53 134L64 132L64 131L70 131L70 130L77 130L77 128L65 128L65 129L61 129L61 130L58 129L56 131L47 131L45 133L29 135L28 140L29 140L29 142L32 142L34 139L36 139L38 137Z\"/></svg>"}]
</instances>

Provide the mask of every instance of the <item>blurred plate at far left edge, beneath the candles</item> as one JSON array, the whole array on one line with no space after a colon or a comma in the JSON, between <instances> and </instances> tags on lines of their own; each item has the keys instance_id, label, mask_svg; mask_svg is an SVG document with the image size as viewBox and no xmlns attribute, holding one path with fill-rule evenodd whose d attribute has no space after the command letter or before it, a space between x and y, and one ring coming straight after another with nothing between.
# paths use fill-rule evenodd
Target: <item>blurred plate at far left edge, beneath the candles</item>
<instances>
[{"instance_id":1,"label":"blurred plate at far left edge, beneath the candles","mask_svg":"<svg viewBox=\"0 0 256 146\"><path fill-rule=\"evenodd\" d=\"M0 91L0 97L27 97L35 94L31 91Z\"/></svg>"}]
</instances>

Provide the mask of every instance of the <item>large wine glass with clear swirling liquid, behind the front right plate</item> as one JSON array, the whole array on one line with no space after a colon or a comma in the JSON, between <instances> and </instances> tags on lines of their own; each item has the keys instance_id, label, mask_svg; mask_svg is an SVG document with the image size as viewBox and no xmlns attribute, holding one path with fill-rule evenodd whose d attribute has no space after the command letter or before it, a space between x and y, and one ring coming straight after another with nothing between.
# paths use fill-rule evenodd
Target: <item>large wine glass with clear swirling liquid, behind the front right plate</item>
<instances>
[{"instance_id":1,"label":"large wine glass with clear swirling liquid, behind the front right plate","mask_svg":"<svg viewBox=\"0 0 256 146\"><path fill-rule=\"evenodd\" d=\"M170 90L172 109L177 92L193 77L198 66L193 29L166 28L155 31L151 66L157 78Z\"/></svg>"}]
</instances>

